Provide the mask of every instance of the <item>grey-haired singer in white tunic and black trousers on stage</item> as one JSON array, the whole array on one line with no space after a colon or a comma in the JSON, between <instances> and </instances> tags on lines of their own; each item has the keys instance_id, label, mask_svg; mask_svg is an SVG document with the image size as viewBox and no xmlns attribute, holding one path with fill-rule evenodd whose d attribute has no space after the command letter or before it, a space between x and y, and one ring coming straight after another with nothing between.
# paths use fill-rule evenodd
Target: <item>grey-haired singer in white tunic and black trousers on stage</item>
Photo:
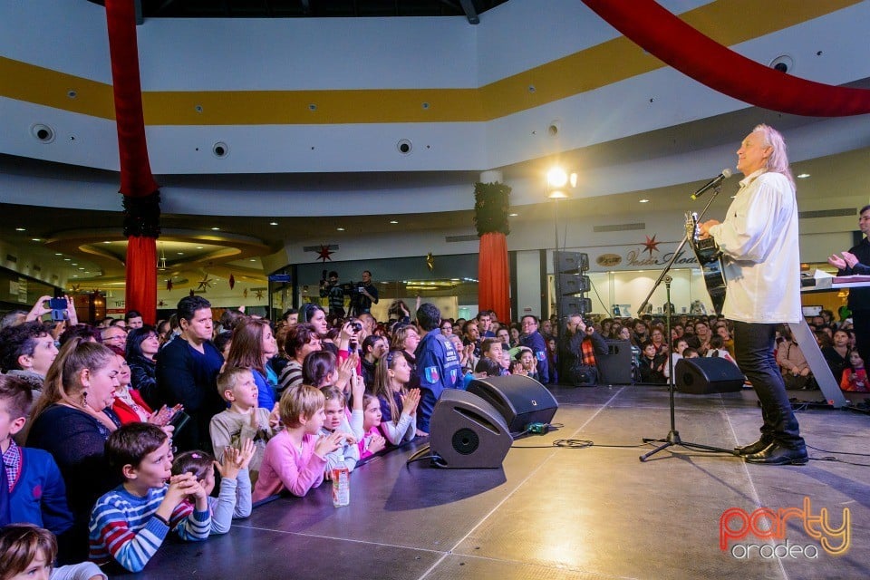
<instances>
[{"instance_id":1,"label":"grey-haired singer in white tunic and black trousers on stage","mask_svg":"<svg viewBox=\"0 0 870 580\"><path fill-rule=\"evenodd\" d=\"M725 221L701 224L724 254L722 314L734 321L735 358L761 401L761 438L735 450L748 463L803 465L807 448L773 357L776 324L802 315L795 181L785 140L767 125L746 136L737 160L745 177Z\"/></svg>"}]
</instances>

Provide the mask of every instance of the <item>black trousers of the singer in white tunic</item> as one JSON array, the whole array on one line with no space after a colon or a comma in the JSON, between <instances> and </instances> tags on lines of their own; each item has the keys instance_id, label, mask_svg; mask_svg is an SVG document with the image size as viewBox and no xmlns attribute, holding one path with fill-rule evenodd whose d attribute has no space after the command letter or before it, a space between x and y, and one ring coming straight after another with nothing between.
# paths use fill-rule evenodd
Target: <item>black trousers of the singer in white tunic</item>
<instances>
[{"instance_id":1,"label":"black trousers of the singer in white tunic","mask_svg":"<svg viewBox=\"0 0 870 580\"><path fill-rule=\"evenodd\" d=\"M773 355L776 324L734 322L734 358L761 401L761 435L790 449L804 445Z\"/></svg>"}]
</instances>

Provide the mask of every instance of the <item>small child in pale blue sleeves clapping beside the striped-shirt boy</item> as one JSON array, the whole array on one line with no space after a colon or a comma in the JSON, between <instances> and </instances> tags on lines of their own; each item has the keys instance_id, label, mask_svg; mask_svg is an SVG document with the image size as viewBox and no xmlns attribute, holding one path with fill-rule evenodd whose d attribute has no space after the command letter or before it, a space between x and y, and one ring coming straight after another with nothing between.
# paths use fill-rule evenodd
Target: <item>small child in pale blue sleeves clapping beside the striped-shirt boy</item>
<instances>
[{"instance_id":1,"label":"small child in pale blue sleeves clapping beside the striped-shirt boy","mask_svg":"<svg viewBox=\"0 0 870 580\"><path fill-rule=\"evenodd\" d=\"M251 479L248 465L254 457L254 441L246 440L242 449L227 447L223 461L218 463L205 451L188 451L175 458L172 475L192 473L208 494L211 513L211 534L226 534L234 518L251 515ZM220 473L220 491L211 497L215 488L215 469Z\"/></svg>"}]
</instances>

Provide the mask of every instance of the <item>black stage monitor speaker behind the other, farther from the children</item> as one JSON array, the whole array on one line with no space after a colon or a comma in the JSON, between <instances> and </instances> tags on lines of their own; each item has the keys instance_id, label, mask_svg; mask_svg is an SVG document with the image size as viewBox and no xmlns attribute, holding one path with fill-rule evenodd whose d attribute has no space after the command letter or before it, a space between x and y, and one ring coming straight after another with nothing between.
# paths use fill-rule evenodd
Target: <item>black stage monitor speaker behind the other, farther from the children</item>
<instances>
[{"instance_id":1,"label":"black stage monitor speaker behind the other, farther from the children","mask_svg":"<svg viewBox=\"0 0 870 580\"><path fill-rule=\"evenodd\" d=\"M526 430L529 423L550 422L559 408L544 385L522 374L475 379L468 391L492 404L514 434Z\"/></svg>"}]
</instances>

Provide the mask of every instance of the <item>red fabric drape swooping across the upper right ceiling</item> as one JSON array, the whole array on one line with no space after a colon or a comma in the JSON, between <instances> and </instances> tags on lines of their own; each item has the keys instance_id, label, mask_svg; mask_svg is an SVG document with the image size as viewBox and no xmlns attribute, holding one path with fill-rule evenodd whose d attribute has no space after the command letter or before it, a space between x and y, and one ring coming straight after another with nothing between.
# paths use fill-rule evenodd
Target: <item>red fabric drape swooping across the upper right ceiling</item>
<instances>
[{"instance_id":1,"label":"red fabric drape swooping across the upper right ceiling","mask_svg":"<svg viewBox=\"0 0 870 580\"><path fill-rule=\"evenodd\" d=\"M870 112L870 91L807 81L756 63L701 34L653 0L583 2L647 52L740 101L814 117Z\"/></svg>"}]
</instances>

